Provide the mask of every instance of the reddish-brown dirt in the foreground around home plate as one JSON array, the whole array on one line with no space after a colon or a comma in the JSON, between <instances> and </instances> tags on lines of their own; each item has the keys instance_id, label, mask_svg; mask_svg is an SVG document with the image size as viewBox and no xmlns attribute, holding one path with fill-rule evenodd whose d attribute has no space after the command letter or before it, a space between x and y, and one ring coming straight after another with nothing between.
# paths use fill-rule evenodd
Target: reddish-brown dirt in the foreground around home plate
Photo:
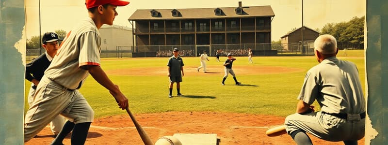
<instances>
[{"instance_id":1,"label":"reddish-brown dirt in the foreground around home plate","mask_svg":"<svg viewBox=\"0 0 388 145\"><path fill-rule=\"evenodd\" d=\"M136 115L138 122L156 142L159 137L174 133L215 133L220 145L295 145L287 134L268 137L265 131L282 124L284 117L215 112L165 112ZM311 135L309 135L311 136ZM53 140L49 127L25 145L49 145ZM311 137L314 145L343 145ZM70 135L65 138L70 145ZM358 141L364 144L364 139ZM85 145L143 145L128 115L95 119Z\"/></svg>"}]
</instances>

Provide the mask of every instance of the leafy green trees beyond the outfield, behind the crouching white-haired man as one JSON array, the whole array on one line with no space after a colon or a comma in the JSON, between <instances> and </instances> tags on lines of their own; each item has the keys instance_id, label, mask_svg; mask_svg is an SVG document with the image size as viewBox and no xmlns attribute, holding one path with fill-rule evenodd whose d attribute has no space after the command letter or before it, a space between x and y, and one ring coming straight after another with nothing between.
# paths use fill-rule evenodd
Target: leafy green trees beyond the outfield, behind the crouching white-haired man
<instances>
[{"instance_id":1,"label":"leafy green trees beyond the outfield, behind the crouching white-haired man","mask_svg":"<svg viewBox=\"0 0 388 145\"><path fill-rule=\"evenodd\" d=\"M320 30L322 34L333 35L337 39L338 48L364 48L364 21L365 16L353 17L348 22L339 22L339 23L327 23ZM294 30L296 28L293 28ZM281 39L278 41L272 41L272 43L281 43Z\"/></svg>"}]
</instances>

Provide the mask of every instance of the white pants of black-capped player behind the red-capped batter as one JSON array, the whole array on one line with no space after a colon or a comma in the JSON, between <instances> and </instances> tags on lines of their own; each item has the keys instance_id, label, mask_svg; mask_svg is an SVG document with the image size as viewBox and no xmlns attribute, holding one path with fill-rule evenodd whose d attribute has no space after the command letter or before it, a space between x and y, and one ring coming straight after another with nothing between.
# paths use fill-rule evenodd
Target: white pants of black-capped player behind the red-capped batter
<instances>
[{"instance_id":1,"label":"white pants of black-capped player behind the red-capped batter","mask_svg":"<svg viewBox=\"0 0 388 145\"><path fill-rule=\"evenodd\" d=\"M33 83L31 86L33 86ZM35 89L33 89L31 87L30 93L28 94L28 105L29 106L32 106L32 102L34 100L33 99L34 94L35 94ZM52 133L58 134L62 130L65 122L66 122L66 118L62 115L58 115L54 119L52 119L52 121L50 122L50 129L51 129Z\"/></svg>"}]
</instances>

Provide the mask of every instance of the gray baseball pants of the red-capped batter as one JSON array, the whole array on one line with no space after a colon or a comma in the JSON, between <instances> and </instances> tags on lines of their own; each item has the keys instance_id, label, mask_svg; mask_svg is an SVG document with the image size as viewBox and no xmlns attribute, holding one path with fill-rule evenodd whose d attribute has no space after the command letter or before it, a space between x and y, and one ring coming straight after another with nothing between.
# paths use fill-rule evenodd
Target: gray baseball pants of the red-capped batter
<instances>
[{"instance_id":1,"label":"gray baseball pants of the red-capped batter","mask_svg":"<svg viewBox=\"0 0 388 145\"><path fill-rule=\"evenodd\" d=\"M32 139L59 114L75 124L93 122L94 111L78 90L65 87L43 77L24 120L24 141Z\"/></svg>"}]
</instances>

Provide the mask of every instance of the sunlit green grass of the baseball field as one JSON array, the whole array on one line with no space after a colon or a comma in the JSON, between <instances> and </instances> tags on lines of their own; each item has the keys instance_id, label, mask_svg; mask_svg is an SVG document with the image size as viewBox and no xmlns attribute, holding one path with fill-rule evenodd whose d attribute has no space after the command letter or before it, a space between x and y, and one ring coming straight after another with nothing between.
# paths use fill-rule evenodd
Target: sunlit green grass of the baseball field
<instances>
[{"instance_id":1,"label":"sunlit green grass of the baseball field","mask_svg":"<svg viewBox=\"0 0 388 145\"><path fill-rule=\"evenodd\" d=\"M346 56L340 51L338 58L356 63L363 91L365 92L364 50L346 50ZM210 58L208 68L221 67L215 57ZM199 58L183 58L185 73L188 68L196 68ZM298 73L276 74L245 74L236 73L236 77L248 86L226 85L221 81L224 73L219 75L185 75L181 83L181 93L185 97L168 98L168 77L165 76L134 76L109 74L113 83L119 85L123 93L129 98L129 107L135 114L156 113L168 111L213 111L235 112L249 114L264 114L287 116L295 112L297 95L299 94L305 73L309 68L317 65L315 57L254 57L254 64L248 64L247 57L237 57L233 66L281 66L300 68ZM101 67L105 71L126 68L166 67L167 58L103 58ZM167 67L166 67L167 74ZM232 77L226 84L232 84ZM26 95L31 83L26 81ZM95 111L95 117L125 114L116 105L109 91L101 87L93 77L89 76L80 89L86 100ZM173 95L176 95L174 85ZM27 100L27 99L26 99ZM319 106L315 103L316 106ZM28 104L26 103L26 110ZM319 110L319 107L317 108Z\"/></svg>"}]
</instances>

